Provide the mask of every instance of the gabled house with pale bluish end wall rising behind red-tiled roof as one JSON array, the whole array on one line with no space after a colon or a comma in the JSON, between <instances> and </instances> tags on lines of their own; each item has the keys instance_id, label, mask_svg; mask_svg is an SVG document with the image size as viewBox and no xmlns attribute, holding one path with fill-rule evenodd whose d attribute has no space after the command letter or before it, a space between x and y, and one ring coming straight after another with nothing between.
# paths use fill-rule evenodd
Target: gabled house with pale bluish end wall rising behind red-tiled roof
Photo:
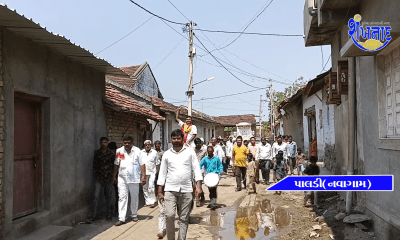
<instances>
[{"instance_id":1,"label":"gabled house with pale bluish end wall rising behind red-tiled roof","mask_svg":"<svg viewBox=\"0 0 400 240\"><path fill-rule=\"evenodd\" d=\"M155 97L163 99L160 88L154 74L147 62L143 62L141 65L134 65L128 67L121 67L121 70L126 72L129 76L113 76L107 75L107 81L112 82L114 85L118 85L129 92L135 92L130 94L139 102L149 102L149 97ZM147 100L144 100L147 99ZM148 137L154 140L158 140L161 135L161 124L155 120L151 120L151 132L152 136Z\"/></svg>"}]
</instances>

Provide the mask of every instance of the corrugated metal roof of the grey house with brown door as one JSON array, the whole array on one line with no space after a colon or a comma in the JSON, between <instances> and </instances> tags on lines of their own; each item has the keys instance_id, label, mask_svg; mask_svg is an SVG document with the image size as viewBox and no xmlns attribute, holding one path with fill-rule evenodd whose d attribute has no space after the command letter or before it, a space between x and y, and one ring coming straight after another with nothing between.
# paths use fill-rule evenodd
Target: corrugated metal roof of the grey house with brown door
<instances>
[{"instance_id":1,"label":"corrugated metal roof of the grey house with brown door","mask_svg":"<svg viewBox=\"0 0 400 240\"><path fill-rule=\"evenodd\" d=\"M9 9L5 4L0 4L0 26L48 46L71 60L93 67L106 74L127 75L106 60L96 57L93 53L71 42L64 36L46 30L39 23L35 23L31 18L28 19L24 15L17 13L16 10Z\"/></svg>"}]
</instances>

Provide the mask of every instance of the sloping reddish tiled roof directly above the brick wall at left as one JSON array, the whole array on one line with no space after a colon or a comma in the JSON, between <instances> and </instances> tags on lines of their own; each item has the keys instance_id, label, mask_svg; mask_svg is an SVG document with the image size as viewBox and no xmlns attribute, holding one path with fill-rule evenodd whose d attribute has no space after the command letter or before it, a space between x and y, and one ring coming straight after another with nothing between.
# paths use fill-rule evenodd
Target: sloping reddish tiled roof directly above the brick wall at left
<instances>
[{"instance_id":1,"label":"sloping reddish tiled roof directly above the brick wall at left","mask_svg":"<svg viewBox=\"0 0 400 240\"><path fill-rule=\"evenodd\" d=\"M128 111L138 115L145 116L155 121L164 121L165 118L160 116L158 113L147 109L140 105L134 99L126 96L118 89L112 86L106 86L106 100L105 102L119 111Z\"/></svg>"}]
</instances>

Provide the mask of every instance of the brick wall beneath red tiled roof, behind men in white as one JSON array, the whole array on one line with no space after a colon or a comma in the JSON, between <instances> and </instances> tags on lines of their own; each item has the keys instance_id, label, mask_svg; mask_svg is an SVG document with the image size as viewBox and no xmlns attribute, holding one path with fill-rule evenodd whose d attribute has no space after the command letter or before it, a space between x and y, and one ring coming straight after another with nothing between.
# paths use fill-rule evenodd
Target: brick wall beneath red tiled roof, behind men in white
<instances>
[{"instance_id":1,"label":"brick wall beneath red tiled roof, behind men in white","mask_svg":"<svg viewBox=\"0 0 400 240\"><path fill-rule=\"evenodd\" d=\"M107 137L110 142L116 142L118 147L122 147L124 136L132 136L133 145L139 148L144 147L144 140L151 139L151 125L145 117L117 112L109 107L105 107L105 113Z\"/></svg>"}]
</instances>

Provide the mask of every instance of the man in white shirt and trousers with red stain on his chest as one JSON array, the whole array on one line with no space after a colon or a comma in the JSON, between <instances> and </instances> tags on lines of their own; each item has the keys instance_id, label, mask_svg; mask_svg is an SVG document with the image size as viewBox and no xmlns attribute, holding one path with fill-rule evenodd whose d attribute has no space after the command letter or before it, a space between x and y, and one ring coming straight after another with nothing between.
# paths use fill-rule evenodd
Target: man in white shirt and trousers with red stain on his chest
<instances>
[{"instance_id":1,"label":"man in white shirt and trousers with red stain on his chest","mask_svg":"<svg viewBox=\"0 0 400 240\"><path fill-rule=\"evenodd\" d=\"M146 184L146 167L139 148L133 146L133 137L123 139L124 146L117 149L113 182L118 183L118 214L119 221L115 226L125 224L128 210L128 194L131 195L132 220L137 222L139 207L139 184ZM118 179L117 179L118 174ZM141 180L140 180L141 179Z\"/></svg>"}]
</instances>

